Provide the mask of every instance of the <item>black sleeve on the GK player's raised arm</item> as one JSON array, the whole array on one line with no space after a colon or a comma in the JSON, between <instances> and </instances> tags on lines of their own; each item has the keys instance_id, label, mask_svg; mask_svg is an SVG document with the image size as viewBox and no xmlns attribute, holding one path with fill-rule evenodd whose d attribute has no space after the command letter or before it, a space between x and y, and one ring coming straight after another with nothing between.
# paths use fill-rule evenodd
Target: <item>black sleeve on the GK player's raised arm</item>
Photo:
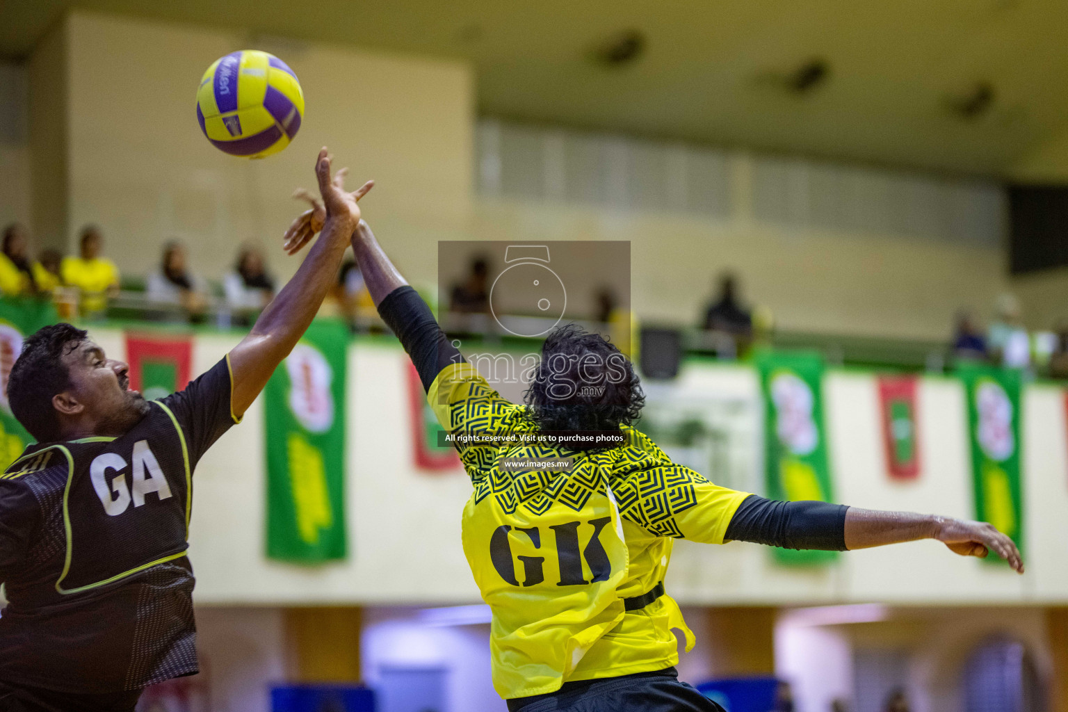
<instances>
[{"instance_id":1,"label":"black sleeve on the GK player's raised arm","mask_svg":"<svg viewBox=\"0 0 1068 712\"><path fill-rule=\"evenodd\" d=\"M408 285L388 294L378 305L378 315L400 339L425 390L430 390L442 368L464 362L464 357L441 331L430 307Z\"/></svg>"}]
</instances>

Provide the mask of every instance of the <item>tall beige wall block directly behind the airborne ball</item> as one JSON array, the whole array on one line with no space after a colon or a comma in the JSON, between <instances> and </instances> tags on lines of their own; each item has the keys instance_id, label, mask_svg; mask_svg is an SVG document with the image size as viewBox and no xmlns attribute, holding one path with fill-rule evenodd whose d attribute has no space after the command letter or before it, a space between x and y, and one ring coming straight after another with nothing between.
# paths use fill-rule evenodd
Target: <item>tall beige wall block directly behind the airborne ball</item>
<instances>
[{"instance_id":1,"label":"tall beige wall block directly behind the airborne ball","mask_svg":"<svg viewBox=\"0 0 1068 712\"><path fill-rule=\"evenodd\" d=\"M469 210L468 68L324 45L276 50L300 77L307 113L283 154L249 161L211 147L194 104L204 69L247 37L84 13L67 31L72 247L78 225L99 223L120 267L147 272L177 237L194 269L219 278L254 240L288 276L297 263L280 238L302 209L290 194L314 188L315 155L329 145L354 189L378 180L366 218L417 279L433 279L436 250L424 246L455 235Z\"/></svg>"}]
</instances>

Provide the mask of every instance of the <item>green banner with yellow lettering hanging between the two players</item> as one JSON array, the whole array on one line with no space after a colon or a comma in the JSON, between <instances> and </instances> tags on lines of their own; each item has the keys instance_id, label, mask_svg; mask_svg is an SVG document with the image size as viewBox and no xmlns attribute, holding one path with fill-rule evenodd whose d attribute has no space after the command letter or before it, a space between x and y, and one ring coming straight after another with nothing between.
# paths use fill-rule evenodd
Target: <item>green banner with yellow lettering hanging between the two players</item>
<instances>
[{"instance_id":1,"label":"green banner with yellow lettering hanging between the two players","mask_svg":"<svg viewBox=\"0 0 1068 712\"><path fill-rule=\"evenodd\" d=\"M271 558L345 558L348 341L341 322L313 322L264 389Z\"/></svg>"}]
</instances>

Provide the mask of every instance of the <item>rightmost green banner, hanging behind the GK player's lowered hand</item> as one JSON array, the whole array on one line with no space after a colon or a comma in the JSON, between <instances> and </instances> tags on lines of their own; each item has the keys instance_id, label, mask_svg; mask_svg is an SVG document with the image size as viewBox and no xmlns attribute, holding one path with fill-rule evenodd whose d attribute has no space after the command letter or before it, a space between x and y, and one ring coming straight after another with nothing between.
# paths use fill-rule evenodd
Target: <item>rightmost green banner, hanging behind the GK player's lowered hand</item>
<instances>
[{"instance_id":1,"label":"rightmost green banner, hanging behind the GK player's lowered hand","mask_svg":"<svg viewBox=\"0 0 1068 712\"><path fill-rule=\"evenodd\" d=\"M975 518L990 522L1023 550L1020 472L1019 370L961 363L957 368L968 394ZM989 556L988 561L1001 561Z\"/></svg>"}]
</instances>

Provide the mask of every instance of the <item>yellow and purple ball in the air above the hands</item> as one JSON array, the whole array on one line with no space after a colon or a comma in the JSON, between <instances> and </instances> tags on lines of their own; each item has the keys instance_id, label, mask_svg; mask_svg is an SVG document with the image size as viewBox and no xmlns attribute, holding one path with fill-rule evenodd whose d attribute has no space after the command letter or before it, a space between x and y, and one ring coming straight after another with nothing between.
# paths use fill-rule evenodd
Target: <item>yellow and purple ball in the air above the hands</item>
<instances>
[{"instance_id":1,"label":"yellow and purple ball in the air above the hands","mask_svg":"<svg viewBox=\"0 0 1068 712\"><path fill-rule=\"evenodd\" d=\"M303 115L297 75L282 60L256 49L216 60L197 90L201 130L231 156L277 154L297 136Z\"/></svg>"}]
</instances>

